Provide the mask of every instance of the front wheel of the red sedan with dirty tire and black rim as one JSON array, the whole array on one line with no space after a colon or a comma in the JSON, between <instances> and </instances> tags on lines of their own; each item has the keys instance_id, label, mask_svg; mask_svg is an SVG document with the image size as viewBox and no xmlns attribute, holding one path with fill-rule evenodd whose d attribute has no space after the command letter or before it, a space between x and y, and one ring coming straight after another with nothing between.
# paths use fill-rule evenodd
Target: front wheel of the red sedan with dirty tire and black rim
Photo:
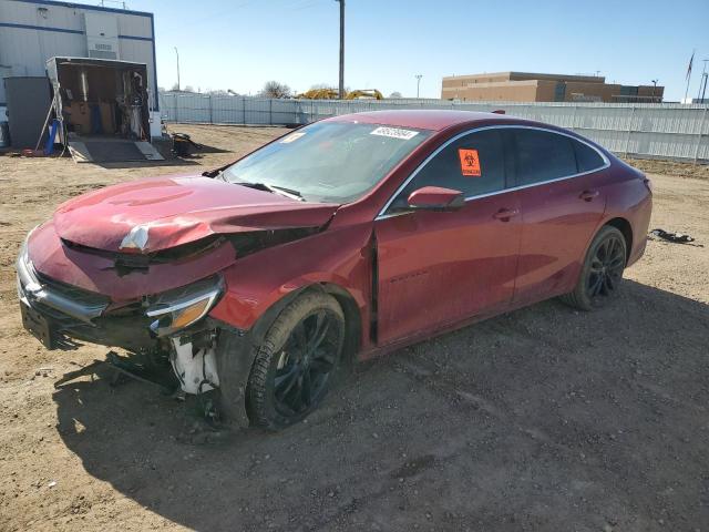
<instances>
[{"instance_id":1,"label":"front wheel of the red sedan with dirty tire and black rim","mask_svg":"<svg viewBox=\"0 0 709 532\"><path fill-rule=\"evenodd\" d=\"M342 356L345 315L325 293L298 297L276 318L258 349L246 388L255 426L278 430L312 412Z\"/></svg>"}]
</instances>

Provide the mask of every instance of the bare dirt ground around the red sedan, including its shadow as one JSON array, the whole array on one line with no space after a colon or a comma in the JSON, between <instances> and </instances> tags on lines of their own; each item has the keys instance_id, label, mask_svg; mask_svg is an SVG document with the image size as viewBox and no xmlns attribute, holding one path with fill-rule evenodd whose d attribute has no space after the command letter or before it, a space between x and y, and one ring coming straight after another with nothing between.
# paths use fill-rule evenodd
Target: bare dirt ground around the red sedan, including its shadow
<instances>
[{"instance_id":1,"label":"bare dirt ground around the red sedan, including its shadow","mask_svg":"<svg viewBox=\"0 0 709 532\"><path fill-rule=\"evenodd\" d=\"M0 156L0 530L709 530L705 167L650 175L653 227L697 242L650 242L609 308L545 301L358 366L289 430L207 438L148 385L55 390L105 349L44 350L16 295L20 242L62 201L282 133L172 130L224 151L113 168Z\"/></svg>"}]
</instances>

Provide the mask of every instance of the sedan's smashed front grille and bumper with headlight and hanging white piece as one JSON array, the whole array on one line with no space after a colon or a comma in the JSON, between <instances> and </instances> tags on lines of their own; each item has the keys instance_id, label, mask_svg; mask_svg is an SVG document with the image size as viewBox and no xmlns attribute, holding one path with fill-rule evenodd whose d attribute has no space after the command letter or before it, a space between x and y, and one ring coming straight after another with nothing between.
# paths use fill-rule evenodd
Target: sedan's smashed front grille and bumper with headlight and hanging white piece
<instances>
[{"instance_id":1,"label":"sedan's smashed front grille and bumper with headlight and hanging white piece","mask_svg":"<svg viewBox=\"0 0 709 532\"><path fill-rule=\"evenodd\" d=\"M74 349L76 340L120 347L154 362L167 360L187 393L218 386L216 329L204 318L224 291L219 275L116 305L37 272L27 246L17 272L23 325L48 349Z\"/></svg>"}]
</instances>

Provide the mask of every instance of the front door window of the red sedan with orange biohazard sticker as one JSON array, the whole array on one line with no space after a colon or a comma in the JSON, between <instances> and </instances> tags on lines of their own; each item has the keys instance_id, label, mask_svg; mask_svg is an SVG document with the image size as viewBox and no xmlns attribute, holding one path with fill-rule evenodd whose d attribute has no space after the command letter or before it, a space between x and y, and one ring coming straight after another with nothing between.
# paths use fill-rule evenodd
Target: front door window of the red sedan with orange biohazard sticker
<instances>
[{"instance_id":1,"label":"front door window of the red sedan with orange biohazard sticker","mask_svg":"<svg viewBox=\"0 0 709 532\"><path fill-rule=\"evenodd\" d=\"M465 197L502 191L505 162L500 130L473 132L445 146L399 193L390 209L405 208L409 195L423 186L452 188Z\"/></svg>"}]
</instances>

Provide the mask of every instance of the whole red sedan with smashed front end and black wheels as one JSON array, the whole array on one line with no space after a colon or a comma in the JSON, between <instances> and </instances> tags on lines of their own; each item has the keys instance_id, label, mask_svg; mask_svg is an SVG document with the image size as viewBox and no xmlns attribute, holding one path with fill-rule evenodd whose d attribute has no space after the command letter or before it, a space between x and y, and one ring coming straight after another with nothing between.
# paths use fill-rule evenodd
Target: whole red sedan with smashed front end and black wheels
<instances>
[{"instance_id":1,"label":"whole red sedan with smashed front end and black wheels","mask_svg":"<svg viewBox=\"0 0 709 532\"><path fill-rule=\"evenodd\" d=\"M350 114L64 203L28 236L18 288L48 348L124 348L276 429L350 360L555 296L602 306L650 211L645 175L559 127Z\"/></svg>"}]
</instances>

